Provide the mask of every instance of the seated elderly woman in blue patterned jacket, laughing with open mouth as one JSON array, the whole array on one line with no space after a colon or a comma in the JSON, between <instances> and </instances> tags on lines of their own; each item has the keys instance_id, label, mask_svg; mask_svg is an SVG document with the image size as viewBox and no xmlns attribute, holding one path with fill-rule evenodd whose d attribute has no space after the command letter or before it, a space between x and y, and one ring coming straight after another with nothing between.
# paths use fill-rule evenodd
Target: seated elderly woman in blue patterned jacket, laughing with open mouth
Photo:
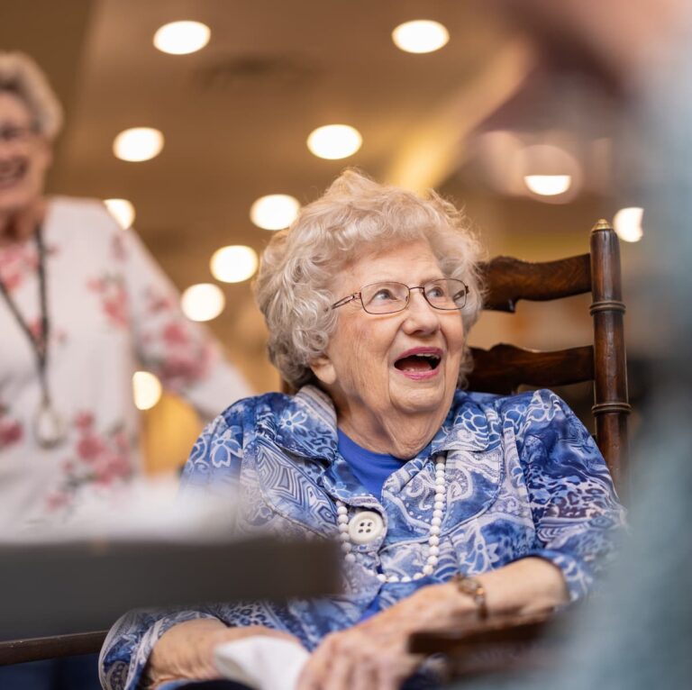
<instances>
[{"instance_id":1,"label":"seated elderly woman in blue patterned jacket, laughing with open mouth","mask_svg":"<svg viewBox=\"0 0 692 690\"><path fill-rule=\"evenodd\" d=\"M239 490L244 531L341 539L345 591L129 614L102 652L106 687L212 678L220 642L280 635L311 652L301 689L395 688L421 663L413 631L587 594L621 508L556 395L458 388L477 257L451 204L353 171L274 237L257 297L271 359L299 391L227 409L184 490Z\"/></svg>"}]
</instances>

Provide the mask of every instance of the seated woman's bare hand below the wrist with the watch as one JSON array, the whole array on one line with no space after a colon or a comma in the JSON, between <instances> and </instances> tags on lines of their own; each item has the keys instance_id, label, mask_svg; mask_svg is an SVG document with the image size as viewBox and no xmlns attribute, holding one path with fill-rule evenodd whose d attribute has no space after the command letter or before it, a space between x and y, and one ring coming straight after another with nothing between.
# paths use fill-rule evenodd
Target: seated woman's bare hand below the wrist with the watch
<instances>
[{"instance_id":1,"label":"seated woman's bare hand below the wrist with the watch","mask_svg":"<svg viewBox=\"0 0 692 690\"><path fill-rule=\"evenodd\" d=\"M412 632L451 628L477 613L454 586L423 587L368 621L327 635L305 664L297 690L397 690L423 661L408 652Z\"/></svg>"}]
</instances>

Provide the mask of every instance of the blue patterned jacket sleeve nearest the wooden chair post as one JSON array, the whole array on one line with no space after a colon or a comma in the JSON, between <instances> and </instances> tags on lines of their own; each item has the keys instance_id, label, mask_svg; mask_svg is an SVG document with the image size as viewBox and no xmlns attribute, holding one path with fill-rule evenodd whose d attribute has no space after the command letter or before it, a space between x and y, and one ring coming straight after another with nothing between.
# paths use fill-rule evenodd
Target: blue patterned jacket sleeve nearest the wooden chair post
<instances>
[{"instance_id":1,"label":"blue patterned jacket sleeve nearest the wooden chair post","mask_svg":"<svg viewBox=\"0 0 692 690\"><path fill-rule=\"evenodd\" d=\"M533 395L517 440L535 524L529 555L560 567L574 601L614 556L624 508L595 441L558 395Z\"/></svg>"}]
</instances>

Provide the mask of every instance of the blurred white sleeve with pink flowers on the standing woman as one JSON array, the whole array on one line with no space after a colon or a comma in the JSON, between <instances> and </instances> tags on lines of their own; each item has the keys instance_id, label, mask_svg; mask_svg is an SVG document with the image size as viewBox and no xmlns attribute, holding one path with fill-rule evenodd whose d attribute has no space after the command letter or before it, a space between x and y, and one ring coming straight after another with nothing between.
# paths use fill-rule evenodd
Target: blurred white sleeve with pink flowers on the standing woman
<instances>
[{"instance_id":1,"label":"blurred white sleeve with pink flowers on the standing woman","mask_svg":"<svg viewBox=\"0 0 692 690\"><path fill-rule=\"evenodd\" d=\"M114 236L137 356L168 390L182 395L205 420L251 395L210 331L180 309L180 295L132 230Z\"/></svg>"}]
</instances>

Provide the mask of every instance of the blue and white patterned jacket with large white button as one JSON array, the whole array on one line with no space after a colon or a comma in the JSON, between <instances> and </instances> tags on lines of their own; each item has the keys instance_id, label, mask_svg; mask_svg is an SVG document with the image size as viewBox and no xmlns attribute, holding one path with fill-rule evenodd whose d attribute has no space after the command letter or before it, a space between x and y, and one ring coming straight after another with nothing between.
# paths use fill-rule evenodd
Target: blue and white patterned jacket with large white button
<instances>
[{"instance_id":1,"label":"blue and white patterned jacket with large white button","mask_svg":"<svg viewBox=\"0 0 692 690\"><path fill-rule=\"evenodd\" d=\"M382 584L422 569L435 493L434 458L446 457L447 503L432 576ZM457 572L475 575L538 556L560 567L573 600L585 595L623 525L611 477L591 436L550 391L498 397L458 391L432 442L370 495L337 451L336 414L314 386L229 407L192 450L183 490L242 497L242 530L335 538L337 499L380 513L378 540L354 546L342 595L287 604L216 604L176 613L138 611L114 625L101 654L112 690L138 686L150 651L172 625L214 617L230 626L288 631L314 649L323 636Z\"/></svg>"}]
</instances>

